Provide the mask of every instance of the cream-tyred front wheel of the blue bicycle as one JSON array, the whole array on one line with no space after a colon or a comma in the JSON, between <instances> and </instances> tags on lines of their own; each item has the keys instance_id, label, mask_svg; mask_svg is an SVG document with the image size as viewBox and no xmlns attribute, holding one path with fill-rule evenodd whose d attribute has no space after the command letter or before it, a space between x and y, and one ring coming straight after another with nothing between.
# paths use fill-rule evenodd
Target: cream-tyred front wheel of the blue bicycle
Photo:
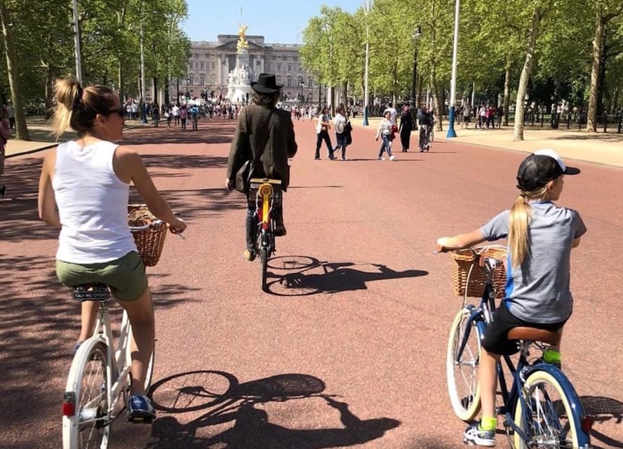
<instances>
[{"instance_id":1,"label":"cream-tyred front wheel of the blue bicycle","mask_svg":"<svg viewBox=\"0 0 623 449\"><path fill-rule=\"evenodd\" d=\"M464 326L471 313L471 307L465 307L457 312L450 327L446 352L446 379L450 403L455 415L464 422L473 420L481 408L480 385L478 383L481 336L474 321L472 321L472 327L469 329L464 353L460 357L457 356L464 335ZM465 359L464 355L466 356ZM464 367L467 369L464 370ZM459 376L457 376L458 373L460 373Z\"/></svg>"}]
</instances>

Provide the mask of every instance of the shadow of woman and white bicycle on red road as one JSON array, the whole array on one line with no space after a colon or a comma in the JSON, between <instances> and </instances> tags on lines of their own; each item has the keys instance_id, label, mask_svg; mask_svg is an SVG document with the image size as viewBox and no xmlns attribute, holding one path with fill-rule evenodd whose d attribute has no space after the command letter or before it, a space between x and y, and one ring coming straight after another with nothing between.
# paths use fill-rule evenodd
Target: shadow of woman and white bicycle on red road
<instances>
[{"instance_id":1,"label":"shadow of woman and white bicycle on red road","mask_svg":"<svg viewBox=\"0 0 623 449\"><path fill-rule=\"evenodd\" d=\"M222 377L220 393L214 391L215 380L219 376ZM207 411L185 424L181 424L172 416L157 419L152 424L154 441L149 447L334 448L373 441L401 424L400 421L387 417L361 420L351 412L348 403L337 401L334 399L335 396L324 394L324 389L325 384L319 378L297 373L275 375L243 384L239 384L234 375L217 371L205 370L173 375L152 387L154 406L159 410L177 413L200 409ZM309 402L312 400L320 399L324 406L337 410L340 427L290 429L269 422L269 413L262 408L269 406L269 403L301 399L306 400L301 408L301 412L306 416L309 413ZM180 408L183 404L187 406ZM286 415L288 416L286 419L290 419L290 413ZM324 420L326 416L322 415L324 414L314 416ZM204 427L213 429L200 431ZM206 436L199 436L198 433Z\"/></svg>"}]
</instances>

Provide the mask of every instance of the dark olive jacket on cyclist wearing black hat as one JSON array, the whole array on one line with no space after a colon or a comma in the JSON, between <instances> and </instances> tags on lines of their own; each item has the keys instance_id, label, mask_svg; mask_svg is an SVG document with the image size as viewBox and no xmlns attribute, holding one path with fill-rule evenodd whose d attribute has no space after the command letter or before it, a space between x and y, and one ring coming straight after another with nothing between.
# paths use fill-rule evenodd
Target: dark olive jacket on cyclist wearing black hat
<instances>
[{"instance_id":1,"label":"dark olive jacket on cyclist wearing black hat","mask_svg":"<svg viewBox=\"0 0 623 449\"><path fill-rule=\"evenodd\" d=\"M290 184L288 158L296 154L297 145L290 112L273 109L276 114L272 133L268 129L271 110L255 104L243 107L238 117L232 147L229 149L227 179L235 180L236 172L261 152L260 163L253 168L253 177L281 180L283 190Z\"/></svg>"}]
</instances>

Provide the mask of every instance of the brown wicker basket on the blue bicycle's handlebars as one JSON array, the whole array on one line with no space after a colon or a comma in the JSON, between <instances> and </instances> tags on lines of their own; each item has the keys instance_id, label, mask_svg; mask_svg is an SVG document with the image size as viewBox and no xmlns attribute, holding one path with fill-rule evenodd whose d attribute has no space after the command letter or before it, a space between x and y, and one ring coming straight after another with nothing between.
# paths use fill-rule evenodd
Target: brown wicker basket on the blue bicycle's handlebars
<instances>
[{"instance_id":1,"label":"brown wicker basket on the blue bicycle's handlebars","mask_svg":"<svg viewBox=\"0 0 623 449\"><path fill-rule=\"evenodd\" d=\"M485 254L504 262L497 265L493 272L493 288L495 297L504 295L507 274L504 264L507 261L508 250L503 246L482 246L476 249L478 254ZM470 272L471 270L471 272ZM478 265L478 259L471 250L453 251L452 276L454 280L454 293L457 296L482 297L485 290L485 269ZM469 278L469 279L468 279ZM468 285L467 292L465 286Z\"/></svg>"}]
</instances>

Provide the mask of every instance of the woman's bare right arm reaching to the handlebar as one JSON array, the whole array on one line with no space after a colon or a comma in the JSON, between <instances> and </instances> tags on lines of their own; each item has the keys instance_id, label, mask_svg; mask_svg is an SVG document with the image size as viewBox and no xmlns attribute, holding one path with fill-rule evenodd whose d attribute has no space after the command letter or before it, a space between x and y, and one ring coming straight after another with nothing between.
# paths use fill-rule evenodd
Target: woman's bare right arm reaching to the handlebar
<instances>
[{"instance_id":1,"label":"woman's bare right arm reaching to the handlebar","mask_svg":"<svg viewBox=\"0 0 623 449\"><path fill-rule=\"evenodd\" d=\"M182 232L186 229L186 223L175 217L168 203L156 189L152 177L147 173L145 163L140 155L128 148L119 147L116 149L113 159L114 171L119 179L134 183L141 198L147 204L147 208L156 217L166 222L173 228L173 231Z\"/></svg>"}]
</instances>

